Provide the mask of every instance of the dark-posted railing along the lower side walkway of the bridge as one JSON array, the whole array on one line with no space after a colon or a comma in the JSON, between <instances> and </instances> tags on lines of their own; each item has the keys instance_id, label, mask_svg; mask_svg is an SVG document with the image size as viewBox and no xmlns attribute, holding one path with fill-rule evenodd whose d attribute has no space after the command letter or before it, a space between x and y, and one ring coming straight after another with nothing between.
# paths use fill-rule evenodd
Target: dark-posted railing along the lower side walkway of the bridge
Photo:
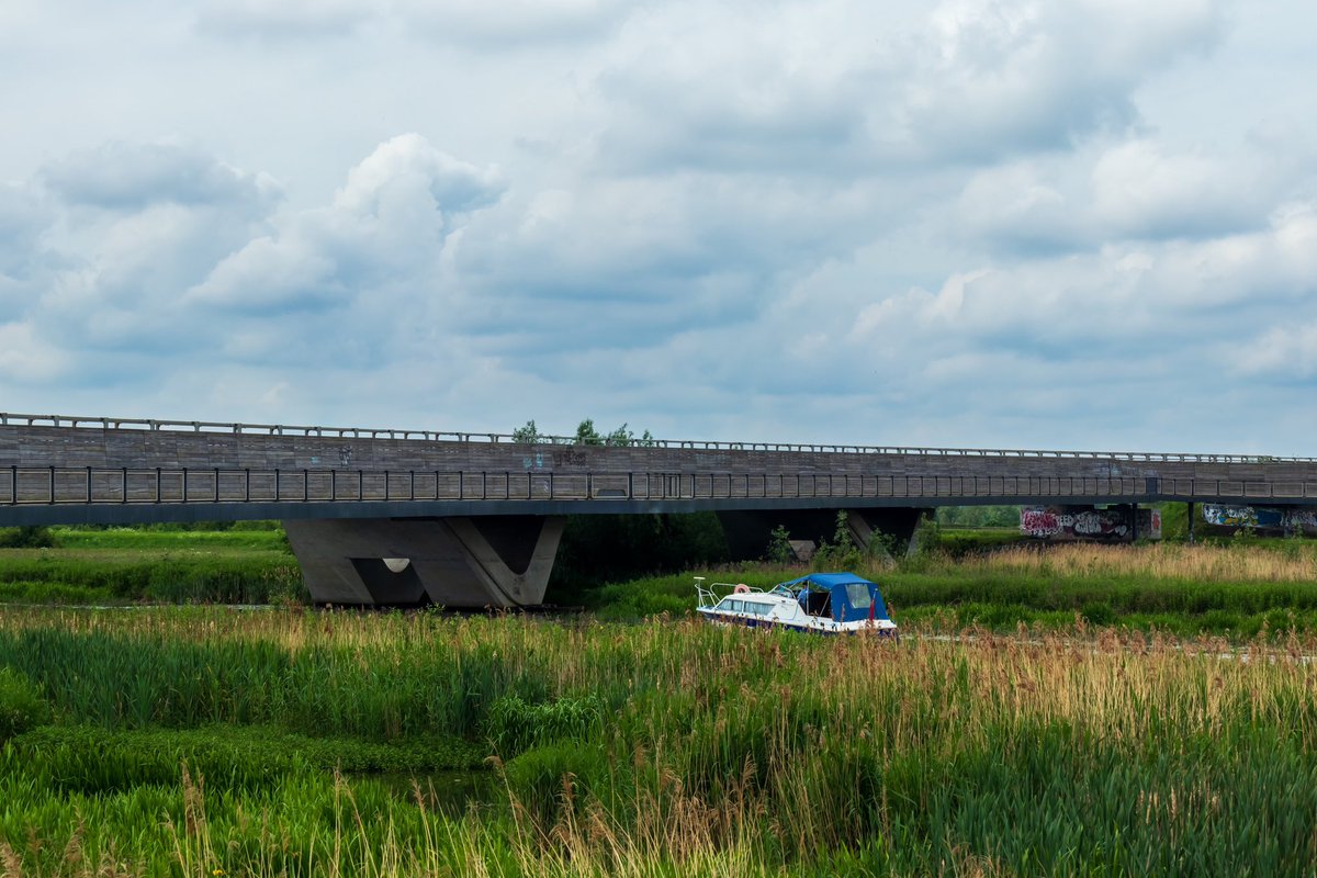
<instances>
[{"instance_id":1,"label":"dark-posted railing along the lower side walkway of the bridge","mask_svg":"<svg viewBox=\"0 0 1317 878\"><path fill-rule=\"evenodd\" d=\"M0 505L465 500L1317 499L1317 483L1143 477L255 469L0 469Z\"/></svg>"}]
</instances>

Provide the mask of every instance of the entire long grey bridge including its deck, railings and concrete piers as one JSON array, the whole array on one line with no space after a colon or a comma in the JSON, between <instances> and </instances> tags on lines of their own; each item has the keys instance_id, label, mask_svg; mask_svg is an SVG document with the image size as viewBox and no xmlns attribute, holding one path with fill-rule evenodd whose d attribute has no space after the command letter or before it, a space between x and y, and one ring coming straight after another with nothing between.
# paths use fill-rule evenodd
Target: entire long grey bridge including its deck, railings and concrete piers
<instances>
[{"instance_id":1,"label":"entire long grey bridge including its deck, railings and concrete piers","mask_svg":"<svg viewBox=\"0 0 1317 878\"><path fill-rule=\"evenodd\" d=\"M315 600L528 606L566 515L716 512L864 544L938 505L1317 505L1317 458L464 433L0 413L0 527L279 519ZM1137 516L1131 515L1131 521Z\"/></svg>"}]
</instances>

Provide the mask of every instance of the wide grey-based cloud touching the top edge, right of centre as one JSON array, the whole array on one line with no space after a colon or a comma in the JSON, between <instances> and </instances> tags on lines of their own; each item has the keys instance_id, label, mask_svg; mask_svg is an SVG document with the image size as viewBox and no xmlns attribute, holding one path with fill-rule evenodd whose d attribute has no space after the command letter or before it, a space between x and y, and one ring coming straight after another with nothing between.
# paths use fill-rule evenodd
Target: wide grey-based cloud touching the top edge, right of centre
<instances>
[{"instance_id":1,"label":"wide grey-based cloud touching the top edge, right of centre","mask_svg":"<svg viewBox=\"0 0 1317 878\"><path fill-rule=\"evenodd\" d=\"M1209 47L1218 7L952 0L927 14L857 1L655 13L601 74L615 101L601 154L632 170L856 174L1064 149L1134 125L1134 91Z\"/></svg>"}]
</instances>

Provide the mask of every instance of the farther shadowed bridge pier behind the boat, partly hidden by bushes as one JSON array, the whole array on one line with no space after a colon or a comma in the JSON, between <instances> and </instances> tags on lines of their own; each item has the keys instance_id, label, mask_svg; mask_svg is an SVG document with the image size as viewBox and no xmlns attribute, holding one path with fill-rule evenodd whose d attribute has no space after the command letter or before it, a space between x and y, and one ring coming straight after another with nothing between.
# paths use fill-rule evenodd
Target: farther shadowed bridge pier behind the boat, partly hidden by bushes
<instances>
[{"instance_id":1,"label":"farther shadowed bridge pier behind the boat, partly hidden by bushes","mask_svg":"<svg viewBox=\"0 0 1317 878\"><path fill-rule=\"evenodd\" d=\"M727 537L727 550L732 558L763 558L778 525L786 528L792 540L811 541L819 545L832 541L836 533L836 513L839 509L741 509L719 512L718 520ZM882 534L877 546L890 554L896 548L905 546L906 554L918 550L915 538L919 519L927 509L918 508L868 508L847 509L847 528L855 545L861 549L871 545L874 532Z\"/></svg>"}]
</instances>

